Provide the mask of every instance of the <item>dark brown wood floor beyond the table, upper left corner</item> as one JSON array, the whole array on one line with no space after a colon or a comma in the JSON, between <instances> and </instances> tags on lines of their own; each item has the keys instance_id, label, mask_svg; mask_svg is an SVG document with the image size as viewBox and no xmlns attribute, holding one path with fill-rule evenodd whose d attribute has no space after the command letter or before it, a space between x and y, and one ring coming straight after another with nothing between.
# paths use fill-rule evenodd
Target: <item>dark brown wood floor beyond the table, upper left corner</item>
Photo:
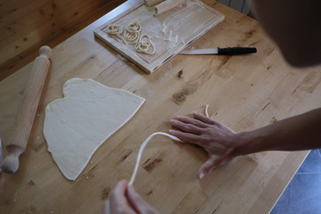
<instances>
[{"instance_id":1,"label":"dark brown wood floor beyond the table, upper left corner","mask_svg":"<svg viewBox=\"0 0 321 214\"><path fill-rule=\"evenodd\" d=\"M0 80L32 62L126 0L0 1Z\"/></svg>"}]
</instances>

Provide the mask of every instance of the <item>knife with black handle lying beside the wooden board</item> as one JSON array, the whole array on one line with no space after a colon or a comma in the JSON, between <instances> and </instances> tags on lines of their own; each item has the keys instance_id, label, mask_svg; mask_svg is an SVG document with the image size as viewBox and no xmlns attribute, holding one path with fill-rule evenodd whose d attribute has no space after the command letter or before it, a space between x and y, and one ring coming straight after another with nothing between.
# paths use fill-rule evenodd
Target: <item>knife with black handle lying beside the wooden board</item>
<instances>
[{"instance_id":1,"label":"knife with black handle lying beside the wooden board","mask_svg":"<svg viewBox=\"0 0 321 214\"><path fill-rule=\"evenodd\" d=\"M257 53L255 47L226 47L226 48L210 48L210 49L194 49L182 51L179 54L199 55L199 54L219 54L219 55L240 55L247 53Z\"/></svg>"}]
</instances>

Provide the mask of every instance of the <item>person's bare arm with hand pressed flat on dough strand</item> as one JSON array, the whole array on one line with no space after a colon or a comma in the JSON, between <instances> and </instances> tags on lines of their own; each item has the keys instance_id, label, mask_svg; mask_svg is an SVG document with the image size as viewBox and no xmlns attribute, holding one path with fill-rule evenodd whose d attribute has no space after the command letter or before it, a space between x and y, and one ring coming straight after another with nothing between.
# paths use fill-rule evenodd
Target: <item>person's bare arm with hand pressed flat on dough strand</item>
<instances>
[{"instance_id":1,"label":"person's bare arm with hand pressed flat on dough strand","mask_svg":"<svg viewBox=\"0 0 321 214\"><path fill-rule=\"evenodd\" d=\"M209 153L209 160L199 169L200 178L239 155L321 147L321 108L241 133L201 113L193 112L193 117L172 119L173 128L178 130L169 133L185 143L198 144Z\"/></svg>"}]
</instances>

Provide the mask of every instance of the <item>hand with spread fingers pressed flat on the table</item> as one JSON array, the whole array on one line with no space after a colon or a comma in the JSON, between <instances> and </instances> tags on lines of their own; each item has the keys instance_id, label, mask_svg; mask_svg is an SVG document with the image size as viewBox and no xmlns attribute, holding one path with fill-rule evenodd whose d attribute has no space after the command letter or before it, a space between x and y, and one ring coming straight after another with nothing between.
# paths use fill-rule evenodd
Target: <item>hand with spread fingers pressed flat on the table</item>
<instances>
[{"instance_id":1,"label":"hand with spread fingers pressed flat on the table","mask_svg":"<svg viewBox=\"0 0 321 214\"><path fill-rule=\"evenodd\" d=\"M209 153L209 160L202 164L198 176L200 179L211 170L231 161L235 157L236 133L222 123L210 119L201 113L193 112L194 119L178 116L171 119L173 128L169 130L185 143L202 146Z\"/></svg>"}]
</instances>

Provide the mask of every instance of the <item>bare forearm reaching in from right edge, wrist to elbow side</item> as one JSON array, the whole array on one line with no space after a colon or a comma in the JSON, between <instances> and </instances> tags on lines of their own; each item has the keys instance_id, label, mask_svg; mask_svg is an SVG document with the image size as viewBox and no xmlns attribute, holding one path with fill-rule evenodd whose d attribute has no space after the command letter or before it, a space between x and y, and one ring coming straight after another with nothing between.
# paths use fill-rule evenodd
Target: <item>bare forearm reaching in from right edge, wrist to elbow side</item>
<instances>
[{"instance_id":1,"label":"bare forearm reaching in from right edge, wrist to elbow side","mask_svg":"<svg viewBox=\"0 0 321 214\"><path fill-rule=\"evenodd\" d=\"M321 148L321 108L237 134L235 155Z\"/></svg>"}]
</instances>

